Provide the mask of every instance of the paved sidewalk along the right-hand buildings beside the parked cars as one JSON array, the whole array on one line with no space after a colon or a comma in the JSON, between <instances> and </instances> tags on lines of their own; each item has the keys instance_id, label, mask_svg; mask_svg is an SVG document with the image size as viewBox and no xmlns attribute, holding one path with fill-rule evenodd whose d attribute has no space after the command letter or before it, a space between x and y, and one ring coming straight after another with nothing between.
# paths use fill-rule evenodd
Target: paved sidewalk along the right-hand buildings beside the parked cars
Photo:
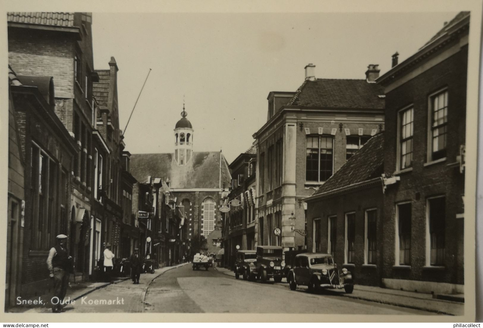
<instances>
[{"instance_id":1,"label":"paved sidewalk along the right-hand buildings beside the parked cars","mask_svg":"<svg viewBox=\"0 0 483 328\"><path fill-rule=\"evenodd\" d=\"M234 277L235 273L225 268L214 268L224 274ZM286 279L283 278L281 283L275 285L283 285L288 288ZM305 286L298 286L298 290L306 290ZM403 290L395 290L374 286L354 285L352 294L346 294L340 290L326 290L321 293L327 295L338 295L351 299L361 299L371 302L377 302L388 305L395 305L415 310L423 310L438 314L463 315L465 304L459 301L435 299L431 294L416 293Z\"/></svg>"}]
</instances>

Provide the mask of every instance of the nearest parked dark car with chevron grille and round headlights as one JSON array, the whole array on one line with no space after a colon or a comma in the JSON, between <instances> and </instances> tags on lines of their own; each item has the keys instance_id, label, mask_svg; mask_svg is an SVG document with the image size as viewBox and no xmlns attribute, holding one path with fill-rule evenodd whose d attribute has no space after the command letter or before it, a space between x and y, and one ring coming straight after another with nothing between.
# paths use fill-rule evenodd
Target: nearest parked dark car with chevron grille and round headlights
<instances>
[{"instance_id":1,"label":"nearest parked dark car with chevron grille and round headlights","mask_svg":"<svg viewBox=\"0 0 483 328\"><path fill-rule=\"evenodd\" d=\"M345 268L340 272L332 255L324 253L298 254L287 279L291 290L297 289L297 285L306 285L313 293L322 288L344 288L351 294L354 289L351 272Z\"/></svg>"}]
</instances>

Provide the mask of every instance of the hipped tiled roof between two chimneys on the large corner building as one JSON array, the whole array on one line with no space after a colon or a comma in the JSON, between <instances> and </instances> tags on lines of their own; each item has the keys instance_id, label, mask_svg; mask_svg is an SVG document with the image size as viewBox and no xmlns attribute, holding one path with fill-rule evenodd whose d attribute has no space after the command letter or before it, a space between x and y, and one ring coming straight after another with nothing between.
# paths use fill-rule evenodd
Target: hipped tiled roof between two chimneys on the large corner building
<instances>
[{"instance_id":1,"label":"hipped tiled roof between two chimneys on the large corner building","mask_svg":"<svg viewBox=\"0 0 483 328\"><path fill-rule=\"evenodd\" d=\"M366 80L305 80L287 103L293 106L384 109L384 88Z\"/></svg>"}]
</instances>

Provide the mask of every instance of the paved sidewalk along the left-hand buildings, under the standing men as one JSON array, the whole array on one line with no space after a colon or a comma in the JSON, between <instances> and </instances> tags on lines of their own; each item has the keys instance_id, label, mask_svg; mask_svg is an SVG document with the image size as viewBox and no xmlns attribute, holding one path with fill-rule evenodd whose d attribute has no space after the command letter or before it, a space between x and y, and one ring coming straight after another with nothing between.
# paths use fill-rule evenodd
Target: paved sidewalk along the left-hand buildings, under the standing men
<instances>
[{"instance_id":1,"label":"paved sidewalk along the left-hand buildings, under the standing men","mask_svg":"<svg viewBox=\"0 0 483 328\"><path fill-rule=\"evenodd\" d=\"M174 269L174 268L181 267L185 264L186 263L182 263L182 264L178 264L178 265L175 265L175 266L172 266L172 267L163 267L163 268L156 269L154 274L149 274L149 277L151 278L151 279L149 279L149 283L151 283L152 280L154 280L155 278L157 278L159 275L163 274L164 272L169 271L169 270ZM145 273L142 274L141 276L143 276L143 275L145 275ZM100 288L104 288L108 285L118 284L120 282L129 280L129 279L130 279L130 277L121 277L121 278L117 278L112 283L93 283L93 282L71 283L69 285L69 288L67 288L67 294L65 296L65 299L70 298L71 300L77 300L77 299L84 297L87 294L92 293L95 290L98 290ZM18 306L9 308L6 312L10 312L10 313L37 313L37 312L39 312L39 308L40 309L50 308L50 305L47 305L47 304L49 304L49 302L47 300L50 297L52 297L52 295L46 294L46 295L30 298L31 300L42 299L43 303L45 304L44 306L24 304L24 305L18 305Z\"/></svg>"}]
</instances>

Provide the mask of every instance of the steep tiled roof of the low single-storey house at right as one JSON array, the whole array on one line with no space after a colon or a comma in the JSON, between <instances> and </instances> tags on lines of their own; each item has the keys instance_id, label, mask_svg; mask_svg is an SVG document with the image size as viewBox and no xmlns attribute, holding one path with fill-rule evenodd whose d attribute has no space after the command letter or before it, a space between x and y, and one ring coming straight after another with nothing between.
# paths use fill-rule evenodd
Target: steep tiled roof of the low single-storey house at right
<instances>
[{"instance_id":1,"label":"steep tiled roof of the low single-storey house at right","mask_svg":"<svg viewBox=\"0 0 483 328\"><path fill-rule=\"evenodd\" d=\"M314 195L371 180L383 174L384 133L376 134L335 172Z\"/></svg>"}]
</instances>

